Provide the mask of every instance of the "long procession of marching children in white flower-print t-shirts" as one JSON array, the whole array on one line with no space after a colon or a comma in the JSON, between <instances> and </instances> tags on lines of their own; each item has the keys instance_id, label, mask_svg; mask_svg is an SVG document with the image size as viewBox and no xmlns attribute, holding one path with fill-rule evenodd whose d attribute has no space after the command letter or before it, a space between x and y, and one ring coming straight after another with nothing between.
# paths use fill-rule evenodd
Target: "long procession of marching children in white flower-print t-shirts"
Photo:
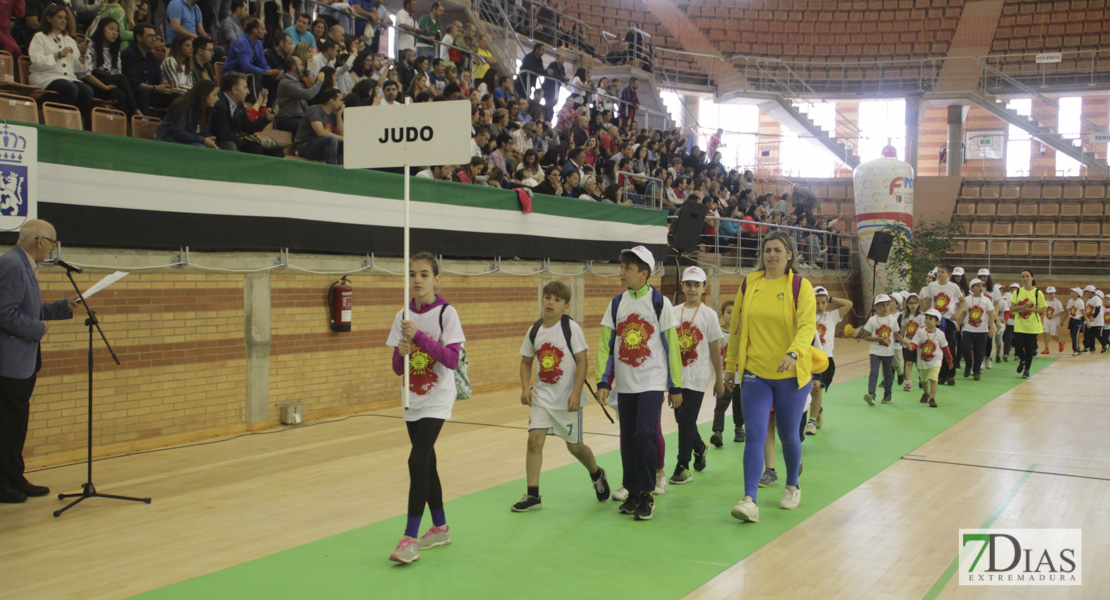
<instances>
[{"instance_id":1,"label":"long procession of marching children in white flower-print t-shirts","mask_svg":"<svg viewBox=\"0 0 1110 600\"><path fill-rule=\"evenodd\" d=\"M468 390L465 375L463 383L458 382L460 374L465 373L465 335L458 313L436 294L438 263L434 255L421 253L412 257L408 267L413 292L408 314L397 313L386 342L394 348L394 372L402 375L407 364L410 377L411 401L403 410L412 443L408 519L404 537L390 556L391 560L402 563L420 559L420 550L451 543L436 470L435 441L444 421L451 418L458 394ZM597 399L603 407L612 406L617 411L620 424L622 486L612 492L605 469L597 465L583 440L583 406L591 397L586 383L589 346L582 327L567 314L571 288L563 282L552 282L544 287L543 316L525 333L521 345L521 404L529 407L525 460L527 489L511 507L513 511L542 508L543 447L546 437L554 435L563 438L571 455L586 468L598 501L613 498L622 502L620 513L632 515L636 520L650 519L655 510L654 496L666 494L668 481L687 484L694 479L692 470L706 468L708 444L698 435L697 416L710 379L715 382L716 405L709 444L723 446L725 411L729 405L733 406L733 439L745 441L739 386L726 386L723 372L728 343L725 329L735 306L726 302L718 317L703 302L706 274L698 267L684 271L685 302L673 306L658 289L648 285L654 268L655 258L646 247L623 251L619 276L625 291L613 298L602 317ZM799 420L799 429L810 436L824 424L823 396L833 385L836 369L833 358L836 326L852 307L850 301L834 298L824 287L813 289L817 313L813 345L828 356L828 366L813 375L809 418L804 411ZM1022 271L1021 284L1011 284L1003 293L989 270L980 270L977 278L967 282L962 268L939 265L918 294L879 294L872 305L874 314L861 332L862 339L870 343L870 376L864 399L871 406L876 404L880 372L881 404L894 401L896 373L898 384L905 383L901 389L910 391L916 366L922 390L920 401L936 407L938 386L956 385L960 358L963 377L973 376L979 380L981 369L992 367L992 350L993 363L1007 362L1011 347L1018 373L1029 377L1038 336L1043 336L1046 346L1041 354L1049 353L1049 339L1063 352L1058 327L1064 314L1073 355L1094 352L1096 343L1106 353L1110 337L1107 325L1110 301L1092 285L1083 289L1073 287L1070 293L1067 305L1061 304L1053 287L1045 293L1037 288L1030 271ZM674 409L678 424L678 456L669 479L663 470L665 448L660 417L664 404ZM777 480L774 424L771 413L768 423L771 431L766 438L769 448L764 452L765 471L759 487L774 485ZM417 538L425 507L431 510L432 527Z\"/></svg>"}]
</instances>

